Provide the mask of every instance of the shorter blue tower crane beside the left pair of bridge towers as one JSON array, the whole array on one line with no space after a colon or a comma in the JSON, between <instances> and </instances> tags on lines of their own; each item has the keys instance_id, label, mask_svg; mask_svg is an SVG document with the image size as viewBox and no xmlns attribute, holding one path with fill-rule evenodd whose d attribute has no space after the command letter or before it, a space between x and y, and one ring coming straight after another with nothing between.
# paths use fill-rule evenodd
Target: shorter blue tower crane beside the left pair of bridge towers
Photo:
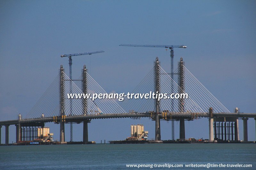
<instances>
[{"instance_id":1,"label":"shorter blue tower crane beside the left pair of bridge towers","mask_svg":"<svg viewBox=\"0 0 256 170\"><path fill-rule=\"evenodd\" d=\"M77 56L77 55L91 55L95 53L102 53L104 51L94 51L94 52L85 52L85 53L76 53L76 54L65 54L65 55L60 55L60 57L68 57L69 58L69 79L72 80L72 56ZM72 86L70 82L69 86L69 93L72 93ZM72 115L72 100L70 99L70 115ZM73 142L73 123L70 122L70 142Z\"/></svg>"}]
</instances>

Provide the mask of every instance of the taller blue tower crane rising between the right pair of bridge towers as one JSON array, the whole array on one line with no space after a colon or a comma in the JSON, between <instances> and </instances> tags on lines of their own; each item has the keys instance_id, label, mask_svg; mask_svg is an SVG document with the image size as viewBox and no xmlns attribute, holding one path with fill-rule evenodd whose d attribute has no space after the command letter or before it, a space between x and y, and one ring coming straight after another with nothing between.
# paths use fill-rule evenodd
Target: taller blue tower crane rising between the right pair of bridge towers
<instances>
[{"instance_id":1,"label":"taller blue tower crane rising between the right pair of bridge towers","mask_svg":"<svg viewBox=\"0 0 256 170\"><path fill-rule=\"evenodd\" d=\"M120 44L119 46L132 46L132 47L161 47L161 48L169 48L170 56L171 56L171 78L173 80L173 48L187 48L187 46L184 45L135 45L135 44ZM173 81L171 81L171 92L173 93ZM172 106L171 106L172 112L173 112L173 99L172 99ZM174 120L172 120L172 140L174 139Z\"/></svg>"}]
</instances>

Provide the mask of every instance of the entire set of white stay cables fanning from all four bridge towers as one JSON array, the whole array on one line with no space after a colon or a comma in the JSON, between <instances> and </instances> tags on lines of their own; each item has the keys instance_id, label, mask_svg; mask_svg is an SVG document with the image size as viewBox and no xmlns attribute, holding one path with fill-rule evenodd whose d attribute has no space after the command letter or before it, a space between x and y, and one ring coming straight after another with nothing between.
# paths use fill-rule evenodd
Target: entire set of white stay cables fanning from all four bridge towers
<instances>
[{"instance_id":1,"label":"entire set of white stay cables fanning from all four bridge towers","mask_svg":"<svg viewBox=\"0 0 256 170\"><path fill-rule=\"evenodd\" d=\"M158 93L166 93L167 96L170 97L172 92L183 92L188 93L188 98L184 100L171 98L160 99L160 111L174 113L183 110L185 113L208 113L209 107L212 107L215 113L230 113L184 65L184 88L181 89L179 86L180 73L178 70L179 69L175 70L176 73L172 80L169 74L159 66L158 78L160 90ZM89 97L84 100L82 76L77 80L71 81L65 73L63 75L64 114L66 116L143 113L155 110L155 99L153 99L152 96L151 99L145 99L145 97L135 99L134 96L132 99L125 98L124 101L121 102L122 107L113 99L97 98L92 101ZM155 79L155 69L153 67L131 93L146 94L155 92ZM87 94L90 94L91 97L94 93L107 93L87 72L86 81ZM72 91L71 94L70 90ZM73 99L70 99L70 95L73 95ZM44 117L60 115L60 74L36 102L25 119L40 118L42 114L44 114Z\"/></svg>"}]
</instances>

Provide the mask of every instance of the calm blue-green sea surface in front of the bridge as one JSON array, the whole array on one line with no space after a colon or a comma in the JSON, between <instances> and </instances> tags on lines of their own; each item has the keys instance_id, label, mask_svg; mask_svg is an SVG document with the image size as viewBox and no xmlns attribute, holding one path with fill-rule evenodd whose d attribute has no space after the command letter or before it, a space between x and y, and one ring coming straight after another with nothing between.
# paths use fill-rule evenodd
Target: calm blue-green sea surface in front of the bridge
<instances>
[{"instance_id":1,"label":"calm blue-green sea surface in front of the bridge","mask_svg":"<svg viewBox=\"0 0 256 170\"><path fill-rule=\"evenodd\" d=\"M252 164L252 168L237 169L256 169L256 144L0 146L0 169L134 169L126 164L165 163L183 164L177 169L207 169L185 167L191 163Z\"/></svg>"}]
</instances>

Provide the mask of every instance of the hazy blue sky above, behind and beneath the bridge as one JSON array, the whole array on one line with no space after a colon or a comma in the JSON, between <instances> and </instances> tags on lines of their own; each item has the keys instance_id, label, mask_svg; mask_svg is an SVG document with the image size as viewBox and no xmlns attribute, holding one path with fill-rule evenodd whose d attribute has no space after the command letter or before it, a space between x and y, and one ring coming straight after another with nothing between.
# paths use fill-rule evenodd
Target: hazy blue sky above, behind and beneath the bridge
<instances>
[{"instance_id":1,"label":"hazy blue sky above, behind and beneath the bridge","mask_svg":"<svg viewBox=\"0 0 256 170\"><path fill-rule=\"evenodd\" d=\"M186 67L233 112L256 109L256 1L0 1L0 120L23 117L57 76L62 54L104 50L73 57L73 78L86 64L107 92L132 91L153 66L156 56L170 70L165 48L134 48L130 44L186 45L174 50L174 69L182 56ZM92 120L89 140L120 140L130 125L143 123L149 138L155 122ZM59 140L59 125L46 123ZM209 138L208 119L185 122L186 137ZM75 141L82 124L74 125ZM239 120L240 139L243 122ZM161 121L162 139L171 139L171 122ZM175 123L179 138L179 122ZM248 139L255 140L255 120L248 120ZM10 142L15 126L10 126ZM66 125L69 141L69 125ZM4 143L4 127L2 128Z\"/></svg>"}]
</instances>

